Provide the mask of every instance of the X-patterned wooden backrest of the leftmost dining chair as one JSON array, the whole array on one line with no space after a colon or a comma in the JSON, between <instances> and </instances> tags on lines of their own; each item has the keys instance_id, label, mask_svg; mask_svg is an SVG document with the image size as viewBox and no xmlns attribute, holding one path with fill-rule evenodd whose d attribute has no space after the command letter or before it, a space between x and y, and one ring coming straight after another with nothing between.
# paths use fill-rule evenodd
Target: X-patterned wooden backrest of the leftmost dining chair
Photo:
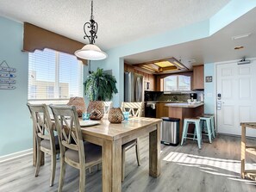
<instances>
[{"instance_id":1,"label":"X-patterned wooden backrest of the leftmost dining chair","mask_svg":"<svg viewBox=\"0 0 256 192\"><path fill-rule=\"evenodd\" d=\"M47 105L31 104L29 102L27 105L33 120L33 128L36 137L50 140L51 147L55 150L53 122L51 121Z\"/></svg>"}]
</instances>

